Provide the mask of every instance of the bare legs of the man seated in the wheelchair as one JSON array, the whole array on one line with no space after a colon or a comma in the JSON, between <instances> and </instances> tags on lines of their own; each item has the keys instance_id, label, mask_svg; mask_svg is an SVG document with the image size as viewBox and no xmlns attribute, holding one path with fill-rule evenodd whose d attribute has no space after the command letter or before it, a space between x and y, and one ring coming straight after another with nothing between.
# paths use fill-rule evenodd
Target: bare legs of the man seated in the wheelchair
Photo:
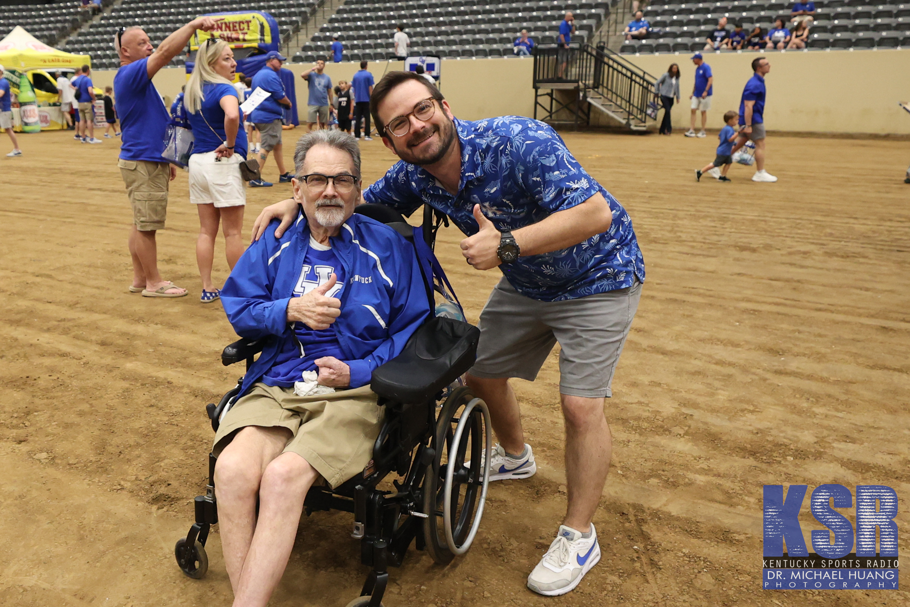
<instances>
[{"instance_id":1,"label":"bare legs of the man seated in the wheelchair","mask_svg":"<svg viewBox=\"0 0 910 607\"><path fill-rule=\"evenodd\" d=\"M282 453L291 438L287 428L248 426L218 456L215 492L234 607L268 603L288 565L304 498L319 478L297 453Z\"/></svg>"}]
</instances>

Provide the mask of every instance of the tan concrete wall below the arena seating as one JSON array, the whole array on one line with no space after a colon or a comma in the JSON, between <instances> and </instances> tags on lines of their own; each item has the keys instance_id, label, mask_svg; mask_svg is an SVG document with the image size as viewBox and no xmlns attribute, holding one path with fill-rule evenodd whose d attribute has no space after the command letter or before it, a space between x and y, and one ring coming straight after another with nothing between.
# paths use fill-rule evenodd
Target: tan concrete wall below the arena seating
<instances>
[{"instance_id":1,"label":"tan concrete wall below the arena seating","mask_svg":"<svg viewBox=\"0 0 910 607\"><path fill-rule=\"evenodd\" d=\"M752 75L750 52L707 55L712 67L714 95L708 127L723 126L723 113L738 109L743 86ZM910 100L910 49L831 52L775 51L767 77L765 122L776 131L816 133L910 134L910 116L897 106ZM682 104L673 107L673 126L688 127L689 99L694 66L689 55L632 56L632 63L655 78L671 63L682 71ZM308 66L286 64L295 74ZM386 70L400 69L399 62L370 63L377 82ZM531 58L460 59L442 62L442 93L455 116L473 120L506 114L533 116ZM359 69L355 63L329 64L326 73L337 83L349 80ZM113 71L93 72L96 86L111 84ZM186 82L182 69L163 69L155 77L167 102ZM306 112L307 86L297 81L298 108ZM592 112L592 116L596 111ZM662 114L662 112L661 112ZM306 118L306 116L302 116ZM660 117L660 116L659 116ZM603 121L602 124L609 124Z\"/></svg>"}]
</instances>

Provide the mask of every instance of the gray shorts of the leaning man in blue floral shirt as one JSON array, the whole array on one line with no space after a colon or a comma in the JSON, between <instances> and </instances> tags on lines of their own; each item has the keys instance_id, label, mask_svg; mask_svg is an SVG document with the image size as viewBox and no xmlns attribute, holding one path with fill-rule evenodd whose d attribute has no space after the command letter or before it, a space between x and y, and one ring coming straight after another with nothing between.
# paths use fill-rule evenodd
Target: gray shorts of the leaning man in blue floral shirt
<instances>
[{"instance_id":1,"label":"gray shorts of the leaning man in blue floral shirt","mask_svg":"<svg viewBox=\"0 0 910 607\"><path fill-rule=\"evenodd\" d=\"M609 397L641 296L642 283L636 279L630 288L538 301L521 295L503 277L480 312L480 345L469 373L533 381L559 342L560 392L589 399Z\"/></svg>"}]
</instances>

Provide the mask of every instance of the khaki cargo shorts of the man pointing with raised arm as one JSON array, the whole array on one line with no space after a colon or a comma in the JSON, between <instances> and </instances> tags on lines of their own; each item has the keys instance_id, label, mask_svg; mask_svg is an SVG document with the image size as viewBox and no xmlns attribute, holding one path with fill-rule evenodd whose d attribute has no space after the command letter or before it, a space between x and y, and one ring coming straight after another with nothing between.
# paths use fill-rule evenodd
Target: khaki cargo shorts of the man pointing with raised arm
<instances>
[{"instance_id":1,"label":"khaki cargo shorts of the man pointing with raised arm","mask_svg":"<svg viewBox=\"0 0 910 607\"><path fill-rule=\"evenodd\" d=\"M120 175L126 184L126 196L133 207L136 229L147 232L165 228L167 218L167 187L170 167L167 162L147 160L117 160Z\"/></svg>"}]
</instances>

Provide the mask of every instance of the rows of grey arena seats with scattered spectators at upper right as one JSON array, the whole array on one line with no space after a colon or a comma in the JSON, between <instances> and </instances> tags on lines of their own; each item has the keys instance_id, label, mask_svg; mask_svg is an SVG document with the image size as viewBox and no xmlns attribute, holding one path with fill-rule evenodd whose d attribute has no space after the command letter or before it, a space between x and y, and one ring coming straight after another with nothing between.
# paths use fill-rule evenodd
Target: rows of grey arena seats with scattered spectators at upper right
<instances>
[{"instance_id":1,"label":"rows of grey arena seats with scattered spectators at upper right","mask_svg":"<svg viewBox=\"0 0 910 607\"><path fill-rule=\"evenodd\" d=\"M645 40L624 43L621 52L701 51L705 39L722 16L727 17L727 27L731 30L733 24L739 23L746 31L759 25L767 33L778 16L789 21L792 6L792 2L781 0L649 5L643 13L654 31ZM882 4L881 0L818 0L815 9L807 50L910 46L910 4Z\"/></svg>"}]
</instances>

